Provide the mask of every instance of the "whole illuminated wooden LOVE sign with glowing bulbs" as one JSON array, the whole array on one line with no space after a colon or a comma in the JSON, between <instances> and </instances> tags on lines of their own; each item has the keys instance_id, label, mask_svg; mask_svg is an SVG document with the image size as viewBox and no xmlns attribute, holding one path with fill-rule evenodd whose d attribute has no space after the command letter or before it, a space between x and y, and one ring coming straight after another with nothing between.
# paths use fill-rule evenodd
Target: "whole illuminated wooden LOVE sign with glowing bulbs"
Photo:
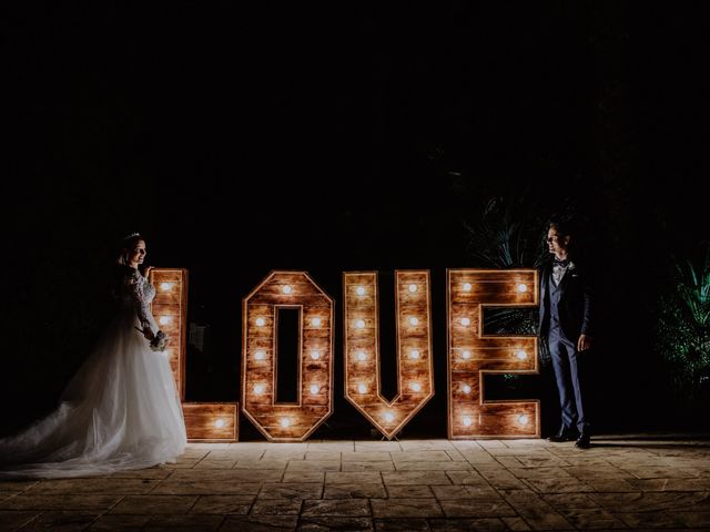
<instances>
[{"instance_id":1,"label":"whole illuminated wooden LOVE sign with glowing bulbs","mask_svg":"<svg viewBox=\"0 0 710 532\"><path fill-rule=\"evenodd\" d=\"M185 269L156 268L153 315L174 340L170 359L191 441L236 441L237 403L184 402ZM398 393L379 385L376 272L343 274L345 397L387 439L434 396L428 270L395 273ZM538 304L535 269L447 270L447 429L450 439L540 436L538 400L489 401L486 374L537 374L534 336L485 335L486 307ZM298 399L276 400L278 309L298 310ZM333 412L334 300L305 272L272 272L242 301L242 411L270 441L303 441Z\"/></svg>"}]
</instances>

